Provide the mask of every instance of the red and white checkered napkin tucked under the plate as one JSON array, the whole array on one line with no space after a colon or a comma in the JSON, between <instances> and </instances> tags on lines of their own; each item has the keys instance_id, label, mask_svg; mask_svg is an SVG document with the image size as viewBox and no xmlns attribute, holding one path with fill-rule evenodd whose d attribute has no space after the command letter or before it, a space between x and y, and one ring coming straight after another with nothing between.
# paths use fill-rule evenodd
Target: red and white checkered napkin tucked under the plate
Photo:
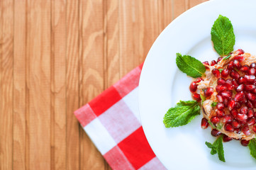
<instances>
[{"instance_id":1,"label":"red and white checkered napkin tucked under the plate","mask_svg":"<svg viewBox=\"0 0 256 170\"><path fill-rule=\"evenodd\" d=\"M112 169L165 169L140 123L138 83L142 66L74 112Z\"/></svg>"}]
</instances>

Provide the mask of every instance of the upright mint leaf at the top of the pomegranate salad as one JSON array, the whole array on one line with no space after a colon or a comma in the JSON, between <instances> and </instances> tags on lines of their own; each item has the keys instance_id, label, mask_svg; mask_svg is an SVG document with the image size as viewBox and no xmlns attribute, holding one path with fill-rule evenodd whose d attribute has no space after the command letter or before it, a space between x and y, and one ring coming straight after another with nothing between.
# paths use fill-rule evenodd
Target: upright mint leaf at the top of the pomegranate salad
<instances>
[{"instance_id":1,"label":"upright mint leaf at the top of the pomegranate salad","mask_svg":"<svg viewBox=\"0 0 256 170\"><path fill-rule=\"evenodd\" d=\"M219 55L228 55L235 45L235 34L232 23L226 16L218 16L211 28L213 47Z\"/></svg>"}]
</instances>

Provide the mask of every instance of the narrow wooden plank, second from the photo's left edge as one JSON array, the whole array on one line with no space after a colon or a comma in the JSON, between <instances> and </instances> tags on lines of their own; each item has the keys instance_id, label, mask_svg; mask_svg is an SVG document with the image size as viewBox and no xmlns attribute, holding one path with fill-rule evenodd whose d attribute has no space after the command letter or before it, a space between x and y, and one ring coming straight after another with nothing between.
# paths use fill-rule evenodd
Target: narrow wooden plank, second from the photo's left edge
<instances>
[{"instance_id":1,"label":"narrow wooden plank, second from the photo's left edge","mask_svg":"<svg viewBox=\"0 0 256 170\"><path fill-rule=\"evenodd\" d=\"M14 1L13 169L26 169L26 1Z\"/></svg>"}]
</instances>

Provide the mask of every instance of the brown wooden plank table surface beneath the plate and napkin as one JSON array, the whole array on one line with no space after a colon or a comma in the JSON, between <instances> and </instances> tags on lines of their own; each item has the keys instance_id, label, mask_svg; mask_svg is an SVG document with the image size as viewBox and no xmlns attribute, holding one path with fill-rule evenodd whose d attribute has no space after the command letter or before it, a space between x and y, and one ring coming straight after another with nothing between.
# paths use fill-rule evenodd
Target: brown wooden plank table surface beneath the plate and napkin
<instances>
[{"instance_id":1,"label":"brown wooden plank table surface beneath the plate and napkin","mask_svg":"<svg viewBox=\"0 0 256 170\"><path fill-rule=\"evenodd\" d=\"M111 169L73 112L206 0L1 0L0 169Z\"/></svg>"}]
</instances>

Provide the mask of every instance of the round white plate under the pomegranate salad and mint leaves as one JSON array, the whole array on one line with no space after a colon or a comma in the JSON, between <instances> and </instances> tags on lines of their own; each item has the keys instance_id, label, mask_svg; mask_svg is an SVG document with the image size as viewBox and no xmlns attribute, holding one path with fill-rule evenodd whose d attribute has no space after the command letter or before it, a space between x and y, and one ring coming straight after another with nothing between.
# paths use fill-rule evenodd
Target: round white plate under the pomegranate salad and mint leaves
<instances>
[{"instance_id":1,"label":"round white plate under the pomegranate salad and mint leaves","mask_svg":"<svg viewBox=\"0 0 256 170\"><path fill-rule=\"evenodd\" d=\"M211 27L218 15L233 24L235 47L256 55L256 1L213 0L189 9L165 28L152 45L140 77L139 106L143 130L153 151L167 169L256 169L249 148L239 141L223 143L226 163L212 156L204 144L213 142L210 128L201 129L197 116L188 125L165 128L167 110L190 100L191 78L179 71L176 53L204 62L218 58L211 43Z\"/></svg>"}]
</instances>

